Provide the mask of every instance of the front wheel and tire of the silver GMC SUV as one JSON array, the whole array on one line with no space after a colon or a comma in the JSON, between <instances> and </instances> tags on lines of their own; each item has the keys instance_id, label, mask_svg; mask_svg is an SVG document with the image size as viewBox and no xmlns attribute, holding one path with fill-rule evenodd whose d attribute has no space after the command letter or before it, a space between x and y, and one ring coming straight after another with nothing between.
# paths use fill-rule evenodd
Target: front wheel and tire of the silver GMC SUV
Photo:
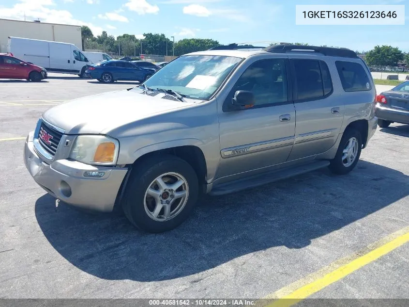
<instances>
[{"instance_id":1,"label":"front wheel and tire of the silver GMC SUV","mask_svg":"<svg viewBox=\"0 0 409 307\"><path fill-rule=\"evenodd\" d=\"M131 174L122 208L137 228L160 233L188 218L198 191L197 175L189 163L172 155L153 156L138 163Z\"/></svg>"}]
</instances>

